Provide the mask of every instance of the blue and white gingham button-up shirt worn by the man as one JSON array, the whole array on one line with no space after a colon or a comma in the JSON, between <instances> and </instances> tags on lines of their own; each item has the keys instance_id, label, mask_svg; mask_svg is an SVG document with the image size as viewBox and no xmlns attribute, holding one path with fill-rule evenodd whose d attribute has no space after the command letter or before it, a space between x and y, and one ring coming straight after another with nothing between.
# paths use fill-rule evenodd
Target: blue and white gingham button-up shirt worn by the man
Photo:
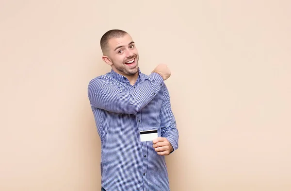
<instances>
[{"instance_id":1,"label":"blue and white gingham button-up shirt worn by the man","mask_svg":"<svg viewBox=\"0 0 291 191\"><path fill-rule=\"evenodd\" d=\"M111 70L92 79L88 97L101 140L101 185L106 191L170 191L165 156L140 131L158 130L178 149L169 92L157 73L140 72L132 86Z\"/></svg>"}]
</instances>

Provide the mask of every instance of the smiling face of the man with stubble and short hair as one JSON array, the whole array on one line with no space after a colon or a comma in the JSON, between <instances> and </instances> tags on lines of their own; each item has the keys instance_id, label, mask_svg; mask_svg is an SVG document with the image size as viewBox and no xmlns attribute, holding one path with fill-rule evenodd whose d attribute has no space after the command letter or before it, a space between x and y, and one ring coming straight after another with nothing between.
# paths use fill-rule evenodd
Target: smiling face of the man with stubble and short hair
<instances>
[{"instance_id":1,"label":"smiling face of the man with stubble and short hair","mask_svg":"<svg viewBox=\"0 0 291 191\"><path fill-rule=\"evenodd\" d=\"M108 53L103 60L111 65L112 69L124 76L132 76L138 72L138 51L130 35L120 38L111 38L108 41Z\"/></svg>"}]
</instances>

